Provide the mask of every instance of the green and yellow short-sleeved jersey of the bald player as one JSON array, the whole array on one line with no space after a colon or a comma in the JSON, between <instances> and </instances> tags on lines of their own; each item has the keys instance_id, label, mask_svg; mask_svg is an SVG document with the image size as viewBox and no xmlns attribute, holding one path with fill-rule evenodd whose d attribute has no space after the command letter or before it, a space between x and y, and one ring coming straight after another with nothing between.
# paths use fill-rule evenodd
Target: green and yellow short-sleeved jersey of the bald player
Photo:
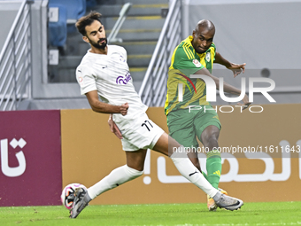
<instances>
[{"instance_id":1,"label":"green and yellow short-sleeved jersey of the bald player","mask_svg":"<svg viewBox=\"0 0 301 226\"><path fill-rule=\"evenodd\" d=\"M166 115L179 108L189 105L210 105L206 101L206 86L201 79L190 79L190 74L195 74L202 68L207 68L212 73L215 57L215 44L202 54L195 51L189 36L174 49L171 66L168 70L167 95L165 104ZM179 101L178 85L182 83L182 101Z\"/></svg>"}]
</instances>

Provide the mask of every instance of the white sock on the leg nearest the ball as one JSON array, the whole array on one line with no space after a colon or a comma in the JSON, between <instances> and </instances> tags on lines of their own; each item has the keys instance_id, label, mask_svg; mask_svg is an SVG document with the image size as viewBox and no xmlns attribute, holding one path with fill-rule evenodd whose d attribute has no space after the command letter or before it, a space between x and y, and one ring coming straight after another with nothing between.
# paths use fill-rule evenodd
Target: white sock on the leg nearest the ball
<instances>
[{"instance_id":1,"label":"white sock on the leg nearest the ball","mask_svg":"<svg viewBox=\"0 0 301 226\"><path fill-rule=\"evenodd\" d=\"M105 176L100 182L94 184L92 187L89 187L88 194L91 199L95 199L98 195L104 191L111 190L121 185L131 181L138 176L143 175L143 171L138 171L134 168L129 168L127 165L124 165L120 168L115 168L112 172Z\"/></svg>"}]
</instances>

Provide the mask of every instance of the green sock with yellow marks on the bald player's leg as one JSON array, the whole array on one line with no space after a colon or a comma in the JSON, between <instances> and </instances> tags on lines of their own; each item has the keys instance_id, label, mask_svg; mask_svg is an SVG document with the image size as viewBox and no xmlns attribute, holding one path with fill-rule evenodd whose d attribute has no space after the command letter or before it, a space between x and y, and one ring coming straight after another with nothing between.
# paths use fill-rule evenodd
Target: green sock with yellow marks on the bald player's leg
<instances>
[{"instance_id":1,"label":"green sock with yellow marks on the bald player's leg","mask_svg":"<svg viewBox=\"0 0 301 226\"><path fill-rule=\"evenodd\" d=\"M221 174L221 158L218 150L212 150L207 153L206 161L207 181L216 189L219 187Z\"/></svg>"}]
</instances>

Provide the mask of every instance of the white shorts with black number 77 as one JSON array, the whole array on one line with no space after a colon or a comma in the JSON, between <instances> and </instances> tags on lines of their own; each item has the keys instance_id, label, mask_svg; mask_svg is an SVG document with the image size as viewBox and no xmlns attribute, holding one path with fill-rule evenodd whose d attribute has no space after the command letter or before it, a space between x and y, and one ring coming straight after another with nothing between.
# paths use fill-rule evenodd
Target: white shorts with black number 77
<instances>
[{"instance_id":1,"label":"white shorts with black number 77","mask_svg":"<svg viewBox=\"0 0 301 226\"><path fill-rule=\"evenodd\" d=\"M164 130L151 121L146 113L143 113L135 119L128 129L122 130L121 133L123 150L134 152L139 149L152 149Z\"/></svg>"}]
</instances>

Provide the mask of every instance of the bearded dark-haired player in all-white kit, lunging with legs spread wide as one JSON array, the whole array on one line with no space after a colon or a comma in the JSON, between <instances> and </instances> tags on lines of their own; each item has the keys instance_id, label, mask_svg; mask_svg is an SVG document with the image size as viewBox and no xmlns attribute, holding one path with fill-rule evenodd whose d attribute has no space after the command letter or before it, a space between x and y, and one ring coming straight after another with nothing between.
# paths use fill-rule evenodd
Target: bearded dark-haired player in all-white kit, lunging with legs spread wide
<instances>
[{"instance_id":1,"label":"bearded dark-haired player in all-white kit, lunging with legs spread wide","mask_svg":"<svg viewBox=\"0 0 301 226\"><path fill-rule=\"evenodd\" d=\"M127 52L123 47L107 45L100 17L100 13L90 12L76 23L77 29L83 35L82 39L91 45L76 69L76 78L81 94L86 95L92 110L96 113L111 113L115 123L111 125L115 127L113 131L115 134L119 130L122 133L121 142L126 152L127 164L115 168L89 189L77 189L70 217L77 217L90 200L104 191L143 175L148 148L169 156L181 175L210 195L218 207L229 210L242 207L242 200L221 194L213 188L189 160L183 146L148 118L145 113L147 106L143 105L135 92L129 74Z\"/></svg>"}]
</instances>

